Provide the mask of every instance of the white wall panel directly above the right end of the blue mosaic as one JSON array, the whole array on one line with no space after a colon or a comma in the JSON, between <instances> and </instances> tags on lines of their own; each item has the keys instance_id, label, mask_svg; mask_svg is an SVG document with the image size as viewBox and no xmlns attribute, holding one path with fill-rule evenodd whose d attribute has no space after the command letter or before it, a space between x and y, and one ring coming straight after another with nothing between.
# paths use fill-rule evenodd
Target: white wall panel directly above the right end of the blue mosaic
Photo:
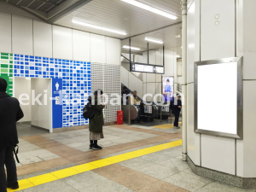
<instances>
[{"instance_id":1,"label":"white wall panel directly above the right end of the blue mosaic","mask_svg":"<svg viewBox=\"0 0 256 192\"><path fill-rule=\"evenodd\" d=\"M90 61L90 33L73 30L73 60Z\"/></svg>"}]
</instances>

